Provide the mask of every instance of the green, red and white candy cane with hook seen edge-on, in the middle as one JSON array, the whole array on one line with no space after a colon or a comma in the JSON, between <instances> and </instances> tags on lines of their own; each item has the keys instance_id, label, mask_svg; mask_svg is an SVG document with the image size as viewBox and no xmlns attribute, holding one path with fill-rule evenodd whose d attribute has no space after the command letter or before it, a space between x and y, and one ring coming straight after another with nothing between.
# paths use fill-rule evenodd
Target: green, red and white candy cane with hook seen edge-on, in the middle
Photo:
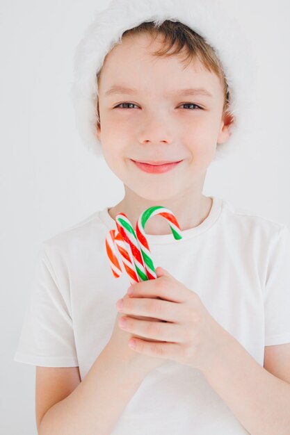
<instances>
[{"instance_id":1,"label":"green, red and white candy cane with hook seen edge-on, in the middle","mask_svg":"<svg viewBox=\"0 0 290 435\"><path fill-rule=\"evenodd\" d=\"M128 243L129 248L131 249L132 258L140 281L147 281L148 277L143 263L143 256L131 222L124 213L119 213L115 217L115 222L123 240Z\"/></svg>"}]
</instances>

